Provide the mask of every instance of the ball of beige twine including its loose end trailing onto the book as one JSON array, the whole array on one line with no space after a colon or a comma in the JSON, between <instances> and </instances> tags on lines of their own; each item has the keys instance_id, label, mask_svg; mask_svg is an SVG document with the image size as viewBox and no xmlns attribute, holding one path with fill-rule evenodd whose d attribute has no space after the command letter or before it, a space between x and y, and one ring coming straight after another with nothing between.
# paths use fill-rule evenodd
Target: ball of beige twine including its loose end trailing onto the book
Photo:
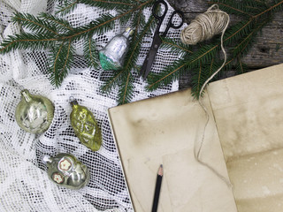
<instances>
[{"instance_id":1,"label":"ball of beige twine including its loose end trailing onto the book","mask_svg":"<svg viewBox=\"0 0 283 212\"><path fill-rule=\"evenodd\" d=\"M214 72L209 79L207 79L203 87L201 88L200 94L203 94L203 89L207 86L211 79L214 78L218 72L224 67L226 64L226 50L223 47L223 36L226 32L226 28L228 27L230 22L230 17L225 11L220 11L218 9L217 4L213 4L210 8L204 12L203 14L198 15L194 20L192 20L191 24L187 26L181 33L181 41L185 44L196 44L197 42L203 42L205 40L209 40L215 34L221 34L221 50L224 54L224 62L218 68L217 72ZM210 115L206 107L202 102L202 98L198 99L199 104L204 110L206 116L206 123L203 129L202 140L195 140L195 159L198 163L203 164L208 167L218 178L221 178L228 187L232 187L230 181L226 179L223 175L221 175L218 170L215 170L210 164L205 163L201 160L201 150L203 148L203 142L205 138L206 127L210 121ZM198 148L197 148L198 147Z\"/></svg>"}]
</instances>

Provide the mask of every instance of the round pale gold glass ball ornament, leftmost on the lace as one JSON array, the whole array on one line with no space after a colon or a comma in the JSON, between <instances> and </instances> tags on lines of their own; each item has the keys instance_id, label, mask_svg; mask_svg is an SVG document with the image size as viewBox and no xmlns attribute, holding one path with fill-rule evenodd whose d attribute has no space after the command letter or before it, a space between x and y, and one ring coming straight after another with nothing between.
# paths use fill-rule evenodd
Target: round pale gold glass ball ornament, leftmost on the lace
<instances>
[{"instance_id":1,"label":"round pale gold glass ball ornament, leftmost on the lace","mask_svg":"<svg viewBox=\"0 0 283 212\"><path fill-rule=\"evenodd\" d=\"M28 133L45 132L54 117L53 103L42 95L31 95L27 89L21 91L15 117L18 125Z\"/></svg>"}]
</instances>

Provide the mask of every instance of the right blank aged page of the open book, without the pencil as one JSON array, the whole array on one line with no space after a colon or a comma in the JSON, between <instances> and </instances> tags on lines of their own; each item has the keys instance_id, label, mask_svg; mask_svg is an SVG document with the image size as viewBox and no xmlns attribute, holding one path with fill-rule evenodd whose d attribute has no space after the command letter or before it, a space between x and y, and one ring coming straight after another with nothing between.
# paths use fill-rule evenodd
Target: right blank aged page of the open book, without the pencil
<instances>
[{"instance_id":1,"label":"right blank aged page of the open book, without the pencil","mask_svg":"<svg viewBox=\"0 0 283 212\"><path fill-rule=\"evenodd\" d=\"M211 83L239 212L283 211L283 64Z\"/></svg>"}]
</instances>

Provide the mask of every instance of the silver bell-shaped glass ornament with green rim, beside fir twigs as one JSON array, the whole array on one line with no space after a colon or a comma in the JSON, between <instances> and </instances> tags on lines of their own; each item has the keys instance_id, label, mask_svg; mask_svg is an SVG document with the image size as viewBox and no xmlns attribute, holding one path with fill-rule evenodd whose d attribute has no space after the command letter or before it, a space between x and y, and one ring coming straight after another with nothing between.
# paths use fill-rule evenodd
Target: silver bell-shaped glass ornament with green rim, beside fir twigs
<instances>
[{"instance_id":1,"label":"silver bell-shaped glass ornament with green rim, beside fir twigs","mask_svg":"<svg viewBox=\"0 0 283 212\"><path fill-rule=\"evenodd\" d=\"M107 45L99 51L100 64L105 71L122 68L126 52L129 48L129 36L134 31L127 27L123 34L115 35Z\"/></svg>"}]
</instances>

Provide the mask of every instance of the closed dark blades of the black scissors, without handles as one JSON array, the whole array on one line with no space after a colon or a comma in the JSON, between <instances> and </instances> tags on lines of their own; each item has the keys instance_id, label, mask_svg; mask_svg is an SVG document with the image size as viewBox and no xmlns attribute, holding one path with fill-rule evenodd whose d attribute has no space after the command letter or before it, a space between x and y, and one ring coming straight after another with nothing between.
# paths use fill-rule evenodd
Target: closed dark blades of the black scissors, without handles
<instances>
[{"instance_id":1,"label":"closed dark blades of the black scissors, without handles","mask_svg":"<svg viewBox=\"0 0 283 212\"><path fill-rule=\"evenodd\" d=\"M157 56L157 50L161 44L162 40L160 38L160 36L155 36L153 38L151 47L149 49L149 53L147 55L147 57L145 58L143 64L142 64L142 68L140 71L140 76L142 76L143 79L146 79L149 75L149 72L151 70L151 66Z\"/></svg>"}]
</instances>

